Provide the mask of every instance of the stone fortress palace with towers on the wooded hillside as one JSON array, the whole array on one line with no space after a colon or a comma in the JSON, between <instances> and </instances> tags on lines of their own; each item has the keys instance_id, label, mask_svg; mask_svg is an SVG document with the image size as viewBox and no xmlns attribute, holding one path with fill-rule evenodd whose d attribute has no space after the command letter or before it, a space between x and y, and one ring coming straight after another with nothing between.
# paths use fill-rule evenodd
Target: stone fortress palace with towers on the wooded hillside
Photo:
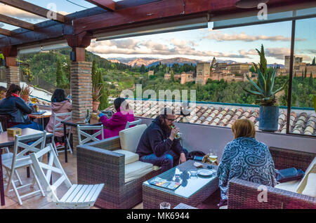
<instances>
[{"instance_id":1,"label":"stone fortress palace with towers on the wooded hillside","mask_svg":"<svg viewBox=\"0 0 316 223\"><path fill-rule=\"evenodd\" d=\"M289 64L290 56L284 57L284 68L277 68L277 76L286 76L289 74ZM181 74L173 74L175 81L180 79L180 83L187 83L195 81L205 85L208 79L213 81L247 81L246 75L248 75L251 80L257 79L258 74L249 72L249 69L253 66L250 63L236 63L236 64L227 64L225 62L216 62L216 58L213 58L211 65L209 62L198 62L196 72L182 72ZM310 76L312 73L313 77L316 77L316 65L310 65L303 62L303 58L294 56L294 73L295 76L302 76L305 72L307 76ZM148 76L154 75L153 71L148 72ZM164 74L164 79L171 79L171 74Z\"/></svg>"}]
</instances>

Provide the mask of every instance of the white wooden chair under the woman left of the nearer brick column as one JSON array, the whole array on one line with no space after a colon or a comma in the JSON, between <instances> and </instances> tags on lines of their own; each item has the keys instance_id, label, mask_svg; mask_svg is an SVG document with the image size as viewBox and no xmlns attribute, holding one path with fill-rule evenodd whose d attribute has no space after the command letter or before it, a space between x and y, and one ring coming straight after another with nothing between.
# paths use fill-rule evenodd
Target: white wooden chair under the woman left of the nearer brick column
<instances>
[{"instance_id":1,"label":"white wooden chair under the woman left of the nearer brick column","mask_svg":"<svg viewBox=\"0 0 316 223\"><path fill-rule=\"evenodd\" d=\"M60 116L66 116L65 119L61 119ZM72 120L72 112L65 112L65 113L54 113L53 114L53 148L55 149L55 152L58 156L58 153L59 152L62 152L62 151L58 151L58 149L62 149L62 147L60 148L57 148L56 147L56 144L55 144L55 132L56 131L63 131L64 130L64 127L62 126L62 121L71 121ZM71 134L71 131L72 131L72 127L71 126L67 126L66 127L66 130L69 131L68 133L68 137L66 136L66 141L65 143L68 144L68 148L67 151L70 151L70 153L72 154L72 147L70 147L70 134Z\"/></svg>"}]
</instances>

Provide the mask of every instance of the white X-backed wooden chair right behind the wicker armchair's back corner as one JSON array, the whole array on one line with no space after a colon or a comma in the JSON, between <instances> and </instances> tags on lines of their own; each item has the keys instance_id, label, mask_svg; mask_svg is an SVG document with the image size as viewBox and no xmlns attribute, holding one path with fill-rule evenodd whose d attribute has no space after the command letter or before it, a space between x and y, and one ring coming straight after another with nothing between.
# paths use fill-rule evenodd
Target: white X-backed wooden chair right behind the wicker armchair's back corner
<instances>
[{"instance_id":1,"label":"white X-backed wooden chair right behind the wicker armchair's back corner","mask_svg":"<svg viewBox=\"0 0 316 223\"><path fill-rule=\"evenodd\" d=\"M103 125L101 126L77 126L78 130L78 141L79 144L85 144L87 142L93 141L100 141L97 136L101 135L101 139L104 140L104 133L103 133ZM84 132L86 130L99 130L96 133L93 133L92 135L89 135L88 133ZM82 140L82 136L85 137L84 140Z\"/></svg>"}]
</instances>

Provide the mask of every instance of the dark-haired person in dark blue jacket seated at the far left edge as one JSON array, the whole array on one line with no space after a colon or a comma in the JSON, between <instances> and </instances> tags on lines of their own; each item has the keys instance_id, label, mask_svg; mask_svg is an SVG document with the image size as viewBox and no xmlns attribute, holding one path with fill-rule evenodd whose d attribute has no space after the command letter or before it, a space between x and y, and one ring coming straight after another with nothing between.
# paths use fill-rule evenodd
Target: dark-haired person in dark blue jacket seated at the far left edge
<instances>
[{"instance_id":1,"label":"dark-haired person in dark blue jacket seated at the far left edge","mask_svg":"<svg viewBox=\"0 0 316 223\"><path fill-rule=\"evenodd\" d=\"M41 124L29 120L28 114L32 113L32 108L22 100L20 92L20 86L11 84L6 91L6 98L0 101L0 114L11 116L10 121L8 121L8 128L43 130Z\"/></svg>"}]
</instances>

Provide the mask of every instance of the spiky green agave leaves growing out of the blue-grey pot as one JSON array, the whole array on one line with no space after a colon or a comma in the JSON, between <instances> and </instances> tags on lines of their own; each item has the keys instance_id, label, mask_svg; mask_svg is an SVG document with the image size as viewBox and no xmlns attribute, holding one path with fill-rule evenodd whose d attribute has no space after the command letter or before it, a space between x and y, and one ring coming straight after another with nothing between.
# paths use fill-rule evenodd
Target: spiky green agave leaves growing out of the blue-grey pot
<instances>
[{"instance_id":1,"label":"spiky green agave leaves growing out of the blue-grey pot","mask_svg":"<svg viewBox=\"0 0 316 223\"><path fill-rule=\"evenodd\" d=\"M261 69L257 69L257 72L258 84L254 83L254 81L251 81L249 76L246 75L247 79L253 84L256 90L243 89L252 95L258 95L260 98L258 98L257 101L260 102L262 106L274 106L276 103L275 94L283 90L289 80L286 81L281 88L273 90L277 69L273 69L273 72L267 70L265 75L261 72Z\"/></svg>"}]
</instances>

